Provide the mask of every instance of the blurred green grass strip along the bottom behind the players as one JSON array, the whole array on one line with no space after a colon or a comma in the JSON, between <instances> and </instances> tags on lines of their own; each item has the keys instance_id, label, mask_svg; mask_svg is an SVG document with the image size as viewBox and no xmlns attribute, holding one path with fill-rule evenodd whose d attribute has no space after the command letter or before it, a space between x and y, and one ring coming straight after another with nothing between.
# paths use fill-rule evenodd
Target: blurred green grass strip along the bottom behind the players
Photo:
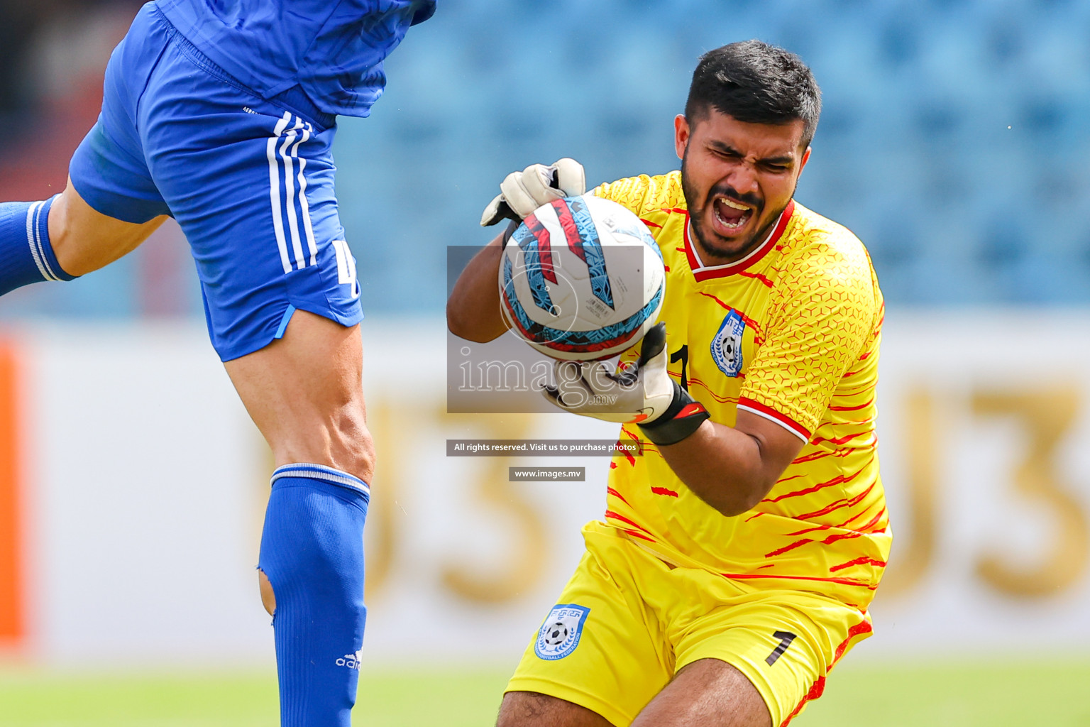
<instances>
[{"instance_id":1,"label":"blurred green grass strip along the bottom behind the players","mask_svg":"<svg viewBox=\"0 0 1090 727\"><path fill-rule=\"evenodd\" d=\"M366 670L360 727L492 727L507 673ZM0 669L3 727L275 727L270 673ZM1090 727L1090 662L844 665L797 727Z\"/></svg>"}]
</instances>

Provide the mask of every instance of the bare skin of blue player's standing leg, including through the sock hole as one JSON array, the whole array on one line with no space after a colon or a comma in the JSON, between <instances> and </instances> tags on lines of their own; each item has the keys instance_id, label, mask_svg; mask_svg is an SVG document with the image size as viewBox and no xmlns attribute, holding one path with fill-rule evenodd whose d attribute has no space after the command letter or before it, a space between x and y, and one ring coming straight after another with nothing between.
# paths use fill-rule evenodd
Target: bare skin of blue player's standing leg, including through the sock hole
<instances>
[{"instance_id":1,"label":"bare skin of blue player's standing leg, including through the sock hole","mask_svg":"<svg viewBox=\"0 0 1090 727\"><path fill-rule=\"evenodd\" d=\"M312 462L371 482L375 449L364 421L359 326L296 311L283 338L225 366L276 467ZM271 615L276 594L262 571L258 585Z\"/></svg>"}]
</instances>

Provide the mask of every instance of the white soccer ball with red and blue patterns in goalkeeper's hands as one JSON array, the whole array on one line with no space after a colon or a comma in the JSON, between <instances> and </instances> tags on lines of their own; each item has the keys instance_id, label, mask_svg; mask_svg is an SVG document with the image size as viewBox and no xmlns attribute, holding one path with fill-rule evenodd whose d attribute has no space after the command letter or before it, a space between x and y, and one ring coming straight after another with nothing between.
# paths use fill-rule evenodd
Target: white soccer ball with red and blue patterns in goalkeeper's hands
<instances>
[{"instance_id":1,"label":"white soccer ball with red and blue patterns in goalkeeper's hands","mask_svg":"<svg viewBox=\"0 0 1090 727\"><path fill-rule=\"evenodd\" d=\"M646 226L592 194L538 207L500 259L508 326L554 359L617 355L655 324L665 293L663 254Z\"/></svg>"}]
</instances>

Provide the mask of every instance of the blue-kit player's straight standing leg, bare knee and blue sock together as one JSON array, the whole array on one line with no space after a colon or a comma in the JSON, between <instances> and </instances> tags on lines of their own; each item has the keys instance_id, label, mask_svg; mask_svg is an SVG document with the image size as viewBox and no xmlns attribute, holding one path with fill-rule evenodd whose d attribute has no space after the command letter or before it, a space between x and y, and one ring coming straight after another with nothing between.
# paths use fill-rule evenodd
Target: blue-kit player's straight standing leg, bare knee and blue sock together
<instances>
[{"instance_id":1,"label":"blue-kit player's straight standing leg, bare knee and blue sock together","mask_svg":"<svg viewBox=\"0 0 1090 727\"><path fill-rule=\"evenodd\" d=\"M295 311L281 339L225 366L277 465L258 583L272 614L281 724L349 727L375 462L360 328Z\"/></svg>"}]
</instances>

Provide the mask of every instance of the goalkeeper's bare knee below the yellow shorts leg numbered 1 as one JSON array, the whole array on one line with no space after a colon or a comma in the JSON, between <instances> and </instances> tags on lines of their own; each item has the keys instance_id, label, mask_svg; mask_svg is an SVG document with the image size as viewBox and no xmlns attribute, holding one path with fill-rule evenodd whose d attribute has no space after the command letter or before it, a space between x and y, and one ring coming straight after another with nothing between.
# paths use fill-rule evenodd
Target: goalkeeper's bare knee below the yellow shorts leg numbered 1
<instances>
[{"instance_id":1,"label":"goalkeeper's bare knee below the yellow shorts leg numbered 1","mask_svg":"<svg viewBox=\"0 0 1090 727\"><path fill-rule=\"evenodd\" d=\"M703 658L682 667L632 727L772 727L772 715L741 671Z\"/></svg>"}]
</instances>

